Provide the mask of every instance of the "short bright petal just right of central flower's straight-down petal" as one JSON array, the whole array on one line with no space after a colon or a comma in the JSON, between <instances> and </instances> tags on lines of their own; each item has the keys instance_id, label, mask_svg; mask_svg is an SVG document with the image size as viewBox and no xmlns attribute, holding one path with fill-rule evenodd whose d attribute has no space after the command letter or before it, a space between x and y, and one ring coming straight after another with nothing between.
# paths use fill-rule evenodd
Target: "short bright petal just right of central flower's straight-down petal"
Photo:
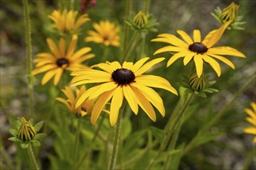
<instances>
[{"instance_id":1,"label":"short bright petal just right of central flower's straight-down petal","mask_svg":"<svg viewBox=\"0 0 256 170\"><path fill-rule=\"evenodd\" d=\"M126 97L126 100L128 104L130 105L130 108L133 110L134 114L138 114L138 104L137 99L135 97L135 94L133 93L133 90L130 88L130 86L123 86L123 94Z\"/></svg>"}]
</instances>

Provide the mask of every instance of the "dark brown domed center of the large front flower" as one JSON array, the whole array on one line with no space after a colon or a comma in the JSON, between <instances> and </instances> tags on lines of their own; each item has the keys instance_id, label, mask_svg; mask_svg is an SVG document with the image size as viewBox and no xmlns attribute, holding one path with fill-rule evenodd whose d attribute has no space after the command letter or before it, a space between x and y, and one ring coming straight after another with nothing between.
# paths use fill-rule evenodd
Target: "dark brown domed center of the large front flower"
<instances>
[{"instance_id":1,"label":"dark brown domed center of the large front flower","mask_svg":"<svg viewBox=\"0 0 256 170\"><path fill-rule=\"evenodd\" d=\"M134 82L135 75L131 70L118 69L112 73L112 80L118 83L118 85L126 85Z\"/></svg>"}]
</instances>

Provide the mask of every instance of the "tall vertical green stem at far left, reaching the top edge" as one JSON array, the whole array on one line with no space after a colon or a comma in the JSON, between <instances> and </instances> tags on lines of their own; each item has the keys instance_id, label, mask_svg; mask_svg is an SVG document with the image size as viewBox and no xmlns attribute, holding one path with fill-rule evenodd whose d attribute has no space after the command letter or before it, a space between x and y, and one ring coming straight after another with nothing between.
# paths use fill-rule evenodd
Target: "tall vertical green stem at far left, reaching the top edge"
<instances>
[{"instance_id":1,"label":"tall vertical green stem at far left, reaching the top edge","mask_svg":"<svg viewBox=\"0 0 256 170\"><path fill-rule=\"evenodd\" d=\"M26 26L26 53L27 53L27 72L28 72L28 90L29 90L29 110L31 117L34 117L34 99L33 99L33 76L32 76L32 45L31 45L31 29L29 20L29 3L28 0L23 0L25 26Z\"/></svg>"}]
</instances>

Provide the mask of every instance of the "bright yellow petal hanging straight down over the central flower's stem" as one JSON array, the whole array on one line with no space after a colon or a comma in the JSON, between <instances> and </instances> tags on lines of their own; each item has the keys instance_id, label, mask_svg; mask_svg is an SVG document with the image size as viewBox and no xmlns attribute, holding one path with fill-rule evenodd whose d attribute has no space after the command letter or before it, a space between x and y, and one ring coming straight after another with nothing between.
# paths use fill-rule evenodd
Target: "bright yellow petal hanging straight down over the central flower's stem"
<instances>
[{"instance_id":1,"label":"bright yellow petal hanging straight down over the central flower's stem","mask_svg":"<svg viewBox=\"0 0 256 170\"><path fill-rule=\"evenodd\" d=\"M116 120L119 115L119 109L123 104L123 90L121 87L117 87L115 93L113 94L111 105L110 105L110 114L109 121L111 126L116 124Z\"/></svg>"}]
</instances>

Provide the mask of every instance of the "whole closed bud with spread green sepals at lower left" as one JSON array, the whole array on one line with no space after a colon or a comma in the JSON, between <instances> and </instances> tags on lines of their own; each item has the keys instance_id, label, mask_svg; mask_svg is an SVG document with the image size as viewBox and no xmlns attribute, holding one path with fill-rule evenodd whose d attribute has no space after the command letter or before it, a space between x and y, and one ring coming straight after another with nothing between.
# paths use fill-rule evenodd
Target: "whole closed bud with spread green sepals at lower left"
<instances>
[{"instance_id":1,"label":"whole closed bud with spread green sepals at lower left","mask_svg":"<svg viewBox=\"0 0 256 170\"><path fill-rule=\"evenodd\" d=\"M38 133L42 125L43 121L40 121L33 126L33 119L26 121L24 117L18 117L15 128L9 129L10 133L13 135L9 140L20 142L22 148L28 148L29 144L33 146L40 146L40 142L38 140L45 136L45 134Z\"/></svg>"}]
</instances>

